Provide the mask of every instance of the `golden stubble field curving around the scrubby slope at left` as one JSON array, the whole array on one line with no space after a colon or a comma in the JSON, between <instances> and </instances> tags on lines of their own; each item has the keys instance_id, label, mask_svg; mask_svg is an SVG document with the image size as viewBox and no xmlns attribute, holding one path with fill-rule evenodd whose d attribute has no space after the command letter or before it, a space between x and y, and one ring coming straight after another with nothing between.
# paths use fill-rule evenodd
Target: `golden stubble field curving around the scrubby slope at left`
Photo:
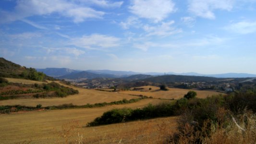
<instances>
[{"instance_id":1,"label":"golden stubble field curving around the scrubby slope at left","mask_svg":"<svg viewBox=\"0 0 256 144\"><path fill-rule=\"evenodd\" d=\"M8 78L8 80L9 79L11 79L12 82L16 82L16 83L18 82L19 83L28 83L28 82L36 83L37 82L37 81L13 79L13 78ZM56 83L61 84L58 81L56 81ZM110 92L104 92L104 91L78 88L78 87L65 85L65 84L61 84L61 85L76 89L79 91L79 94L67 96L64 98L54 97L54 98L9 99L9 100L0 101L0 105L24 105L24 106L34 106L34 107L37 106L38 104L41 104L43 107L69 104L69 103L73 103L74 105L86 105L87 103L95 104L95 103L119 101L119 100L122 100L123 98L126 98L128 100L132 98L138 98L137 96L130 96L127 94L120 94L117 92L110 93Z\"/></svg>"}]
</instances>

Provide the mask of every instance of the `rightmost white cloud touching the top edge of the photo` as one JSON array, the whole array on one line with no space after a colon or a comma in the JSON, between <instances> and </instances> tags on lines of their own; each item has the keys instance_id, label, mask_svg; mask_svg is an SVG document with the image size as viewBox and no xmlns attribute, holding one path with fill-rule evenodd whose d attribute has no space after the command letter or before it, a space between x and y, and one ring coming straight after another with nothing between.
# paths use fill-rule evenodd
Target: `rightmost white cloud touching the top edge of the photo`
<instances>
[{"instance_id":1,"label":"rightmost white cloud touching the top edge of the photo","mask_svg":"<svg viewBox=\"0 0 256 144\"><path fill-rule=\"evenodd\" d=\"M214 10L231 11L234 0L189 0L188 11L195 16L215 19Z\"/></svg>"}]
</instances>

